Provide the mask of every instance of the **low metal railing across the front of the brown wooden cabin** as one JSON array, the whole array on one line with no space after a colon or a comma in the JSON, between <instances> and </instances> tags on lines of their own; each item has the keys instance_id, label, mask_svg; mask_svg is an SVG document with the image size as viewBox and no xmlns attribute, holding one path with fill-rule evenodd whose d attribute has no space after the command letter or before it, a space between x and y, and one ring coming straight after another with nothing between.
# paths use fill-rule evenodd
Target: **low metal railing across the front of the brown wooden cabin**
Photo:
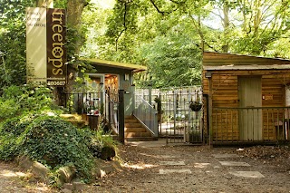
<instances>
[{"instance_id":1,"label":"low metal railing across the front of the brown wooden cabin","mask_svg":"<svg viewBox=\"0 0 290 193\"><path fill-rule=\"evenodd\" d=\"M213 143L289 140L289 107L214 108L212 115Z\"/></svg>"}]
</instances>

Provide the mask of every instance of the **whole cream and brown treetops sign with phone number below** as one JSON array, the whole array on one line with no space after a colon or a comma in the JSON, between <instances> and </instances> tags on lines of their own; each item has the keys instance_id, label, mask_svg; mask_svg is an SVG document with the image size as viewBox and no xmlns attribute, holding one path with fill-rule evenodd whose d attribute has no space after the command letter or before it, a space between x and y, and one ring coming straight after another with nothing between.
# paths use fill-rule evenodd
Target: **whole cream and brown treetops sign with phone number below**
<instances>
[{"instance_id":1,"label":"whole cream and brown treetops sign with phone number below","mask_svg":"<svg viewBox=\"0 0 290 193\"><path fill-rule=\"evenodd\" d=\"M64 9L26 8L27 82L66 84Z\"/></svg>"}]
</instances>

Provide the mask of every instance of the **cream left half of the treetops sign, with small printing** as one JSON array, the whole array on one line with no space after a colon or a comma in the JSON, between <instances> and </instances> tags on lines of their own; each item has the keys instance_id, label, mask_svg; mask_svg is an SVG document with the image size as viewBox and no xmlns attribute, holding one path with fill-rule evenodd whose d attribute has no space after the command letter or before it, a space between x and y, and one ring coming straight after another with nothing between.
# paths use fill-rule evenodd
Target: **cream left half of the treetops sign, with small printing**
<instances>
[{"instance_id":1,"label":"cream left half of the treetops sign, with small printing","mask_svg":"<svg viewBox=\"0 0 290 193\"><path fill-rule=\"evenodd\" d=\"M27 82L46 82L46 8L26 8Z\"/></svg>"}]
</instances>

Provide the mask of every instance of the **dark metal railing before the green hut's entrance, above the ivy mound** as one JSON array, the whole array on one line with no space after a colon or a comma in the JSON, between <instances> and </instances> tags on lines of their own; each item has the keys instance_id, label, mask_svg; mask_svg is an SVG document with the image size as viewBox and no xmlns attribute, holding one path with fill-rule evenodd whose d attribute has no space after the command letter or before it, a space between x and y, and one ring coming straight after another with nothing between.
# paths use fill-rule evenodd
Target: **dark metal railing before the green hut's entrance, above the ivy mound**
<instances>
[{"instance_id":1,"label":"dark metal railing before the green hut's entrance, above the ivy mound","mask_svg":"<svg viewBox=\"0 0 290 193\"><path fill-rule=\"evenodd\" d=\"M124 140L123 91L110 90L101 92L71 92L65 93L64 107L69 113L82 115L91 130L113 130L112 134Z\"/></svg>"}]
</instances>

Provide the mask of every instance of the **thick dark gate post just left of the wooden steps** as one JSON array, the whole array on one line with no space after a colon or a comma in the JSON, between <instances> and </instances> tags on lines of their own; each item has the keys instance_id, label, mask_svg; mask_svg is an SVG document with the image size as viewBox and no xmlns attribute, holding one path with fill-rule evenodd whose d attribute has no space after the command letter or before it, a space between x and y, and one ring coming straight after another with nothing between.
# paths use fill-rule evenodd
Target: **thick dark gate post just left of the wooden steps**
<instances>
[{"instance_id":1,"label":"thick dark gate post just left of the wooden steps","mask_svg":"<svg viewBox=\"0 0 290 193\"><path fill-rule=\"evenodd\" d=\"M125 108L124 108L124 90L119 90L119 140L125 143Z\"/></svg>"}]
</instances>

